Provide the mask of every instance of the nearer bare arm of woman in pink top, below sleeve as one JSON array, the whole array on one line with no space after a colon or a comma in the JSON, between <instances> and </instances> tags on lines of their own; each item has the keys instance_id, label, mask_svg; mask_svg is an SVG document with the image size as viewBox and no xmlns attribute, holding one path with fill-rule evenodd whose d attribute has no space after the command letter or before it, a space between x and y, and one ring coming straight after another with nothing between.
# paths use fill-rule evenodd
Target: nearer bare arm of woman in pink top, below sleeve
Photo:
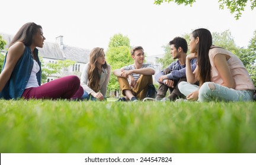
<instances>
[{"instance_id":1,"label":"nearer bare arm of woman in pink top, below sleeve","mask_svg":"<svg viewBox=\"0 0 256 165\"><path fill-rule=\"evenodd\" d=\"M235 88L235 81L233 80L231 70L228 67L227 57L225 54L216 54L214 57L216 69L219 71L220 77L223 80L223 86L228 88Z\"/></svg>"}]
</instances>

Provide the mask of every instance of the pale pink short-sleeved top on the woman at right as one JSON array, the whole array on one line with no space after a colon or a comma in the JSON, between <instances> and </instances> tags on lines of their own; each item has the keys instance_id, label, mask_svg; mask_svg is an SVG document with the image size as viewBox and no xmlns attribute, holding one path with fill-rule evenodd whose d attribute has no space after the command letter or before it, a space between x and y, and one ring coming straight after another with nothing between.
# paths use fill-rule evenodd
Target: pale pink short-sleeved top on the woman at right
<instances>
[{"instance_id":1,"label":"pale pink short-sleeved top on the woman at right","mask_svg":"<svg viewBox=\"0 0 256 165\"><path fill-rule=\"evenodd\" d=\"M249 77L248 71L245 69L242 61L232 52L227 51L223 48L211 48L209 50L210 64L212 65L212 82L216 84L222 84L223 80L220 77L219 71L216 69L213 62L213 58L216 54L226 54L229 55L228 66L231 70L233 80L235 81L235 90L254 90L254 84L252 83L251 78Z\"/></svg>"}]
</instances>

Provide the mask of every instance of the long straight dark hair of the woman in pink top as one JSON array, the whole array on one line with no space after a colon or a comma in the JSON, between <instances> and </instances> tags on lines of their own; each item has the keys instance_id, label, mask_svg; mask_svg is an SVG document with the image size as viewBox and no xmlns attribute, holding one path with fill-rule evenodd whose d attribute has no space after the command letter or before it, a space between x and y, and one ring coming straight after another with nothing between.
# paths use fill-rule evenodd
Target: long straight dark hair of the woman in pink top
<instances>
[{"instance_id":1,"label":"long straight dark hair of the woman in pink top","mask_svg":"<svg viewBox=\"0 0 256 165\"><path fill-rule=\"evenodd\" d=\"M212 34L207 29L196 29L192 32L194 38L199 37L197 49L197 64L199 67L199 84L211 81L212 67L209 59L209 49L212 46Z\"/></svg>"}]
</instances>

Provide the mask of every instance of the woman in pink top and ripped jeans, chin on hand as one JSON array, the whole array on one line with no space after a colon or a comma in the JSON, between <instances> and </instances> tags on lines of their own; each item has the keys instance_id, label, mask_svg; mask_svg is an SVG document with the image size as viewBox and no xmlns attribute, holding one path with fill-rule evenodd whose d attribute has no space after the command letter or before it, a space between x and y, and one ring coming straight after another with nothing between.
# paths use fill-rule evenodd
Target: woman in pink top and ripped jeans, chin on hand
<instances>
[{"instance_id":1,"label":"woman in pink top and ripped jeans, chin on hand","mask_svg":"<svg viewBox=\"0 0 256 165\"><path fill-rule=\"evenodd\" d=\"M178 85L191 101L252 101L255 90L242 61L224 48L212 45L209 30L196 29L190 35L190 55L186 58L187 82ZM197 58L191 71L190 60ZM199 81L200 85L192 85Z\"/></svg>"}]
</instances>

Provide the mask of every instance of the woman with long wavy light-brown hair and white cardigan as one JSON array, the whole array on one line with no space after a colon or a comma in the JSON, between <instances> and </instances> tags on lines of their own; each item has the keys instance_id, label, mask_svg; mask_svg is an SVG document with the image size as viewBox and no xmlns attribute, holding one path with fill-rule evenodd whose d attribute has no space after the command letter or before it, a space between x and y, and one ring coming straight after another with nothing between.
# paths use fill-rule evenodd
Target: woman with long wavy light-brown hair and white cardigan
<instances>
[{"instance_id":1,"label":"woman with long wavy light-brown hair and white cardigan","mask_svg":"<svg viewBox=\"0 0 256 165\"><path fill-rule=\"evenodd\" d=\"M89 56L89 62L85 64L81 75L81 86L84 88L82 99L104 101L106 100L111 67L105 61L103 48L92 49Z\"/></svg>"}]
</instances>

